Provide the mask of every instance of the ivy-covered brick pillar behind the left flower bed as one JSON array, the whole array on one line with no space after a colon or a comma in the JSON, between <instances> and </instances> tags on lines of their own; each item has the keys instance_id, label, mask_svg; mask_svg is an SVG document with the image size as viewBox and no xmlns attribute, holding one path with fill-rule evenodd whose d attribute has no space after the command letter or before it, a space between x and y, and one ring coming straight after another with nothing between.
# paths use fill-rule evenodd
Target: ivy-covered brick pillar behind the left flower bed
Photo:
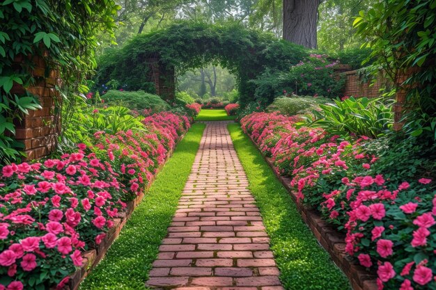
<instances>
[{"instance_id":1,"label":"ivy-covered brick pillar behind the left flower bed","mask_svg":"<svg viewBox=\"0 0 436 290\"><path fill-rule=\"evenodd\" d=\"M23 57L15 58L15 63L20 64ZM35 83L24 89L15 83L11 92L22 95L25 90L38 96L42 108L38 111L29 111L22 120L15 120L15 139L24 143L25 160L40 159L47 156L56 148L57 138L61 131L59 115L55 115L55 100L59 100L56 84L60 83L59 70L51 70L45 74L45 61L40 56L33 56L33 70L31 71Z\"/></svg>"}]
</instances>

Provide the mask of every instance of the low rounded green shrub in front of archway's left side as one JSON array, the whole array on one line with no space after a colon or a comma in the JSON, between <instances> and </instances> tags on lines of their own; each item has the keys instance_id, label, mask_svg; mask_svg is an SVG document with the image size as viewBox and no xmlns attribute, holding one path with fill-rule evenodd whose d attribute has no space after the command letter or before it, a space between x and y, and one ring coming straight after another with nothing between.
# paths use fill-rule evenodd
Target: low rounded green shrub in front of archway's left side
<instances>
[{"instance_id":1,"label":"low rounded green shrub in front of archway's left side","mask_svg":"<svg viewBox=\"0 0 436 290\"><path fill-rule=\"evenodd\" d=\"M169 111L170 109L169 104L159 96L148 94L142 90L137 92L109 90L102 95L102 99L104 99L104 104L122 105L140 113L145 109L151 110L152 113Z\"/></svg>"}]
</instances>

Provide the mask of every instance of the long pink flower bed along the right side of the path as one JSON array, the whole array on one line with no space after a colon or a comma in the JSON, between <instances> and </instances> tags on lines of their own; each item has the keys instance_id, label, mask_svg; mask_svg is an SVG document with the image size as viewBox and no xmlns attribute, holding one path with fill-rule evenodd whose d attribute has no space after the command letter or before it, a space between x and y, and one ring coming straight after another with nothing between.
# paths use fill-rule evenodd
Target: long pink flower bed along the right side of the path
<instances>
[{"instance_id":1,"label":"long pink flower bed along the right side of the path","mask_svg":"<svg viewBox=\"0 0 436 290\"><path fill-rule=\"evenodd\" d=\"M377 167L377 156L361 150L367 138L341 141L323 129L297 129L294 123L277 113L253 113L241 120L246 134L272 156L274 170L290 178L297 200L346 232L345 250L361 266L377 271L379 289L436 289L431 180L398 185L371 176L368 170Z\"/></svg>"}]
</instances>

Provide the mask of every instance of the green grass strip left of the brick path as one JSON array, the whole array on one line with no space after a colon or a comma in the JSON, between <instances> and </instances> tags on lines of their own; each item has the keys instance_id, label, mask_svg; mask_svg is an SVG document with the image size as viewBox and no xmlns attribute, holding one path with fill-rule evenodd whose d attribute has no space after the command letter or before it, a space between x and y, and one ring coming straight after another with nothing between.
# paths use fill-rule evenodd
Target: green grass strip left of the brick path
<instances>
[{"instance_id":1,"label":"green grass strip left of the brick path","mask_svg":"<svg viewBox=\"0 0 436 290\"><path fill-rule=\"evenodd\" d=\"M189 129L106 257L81 283L80 290L146 289L148 272L176 212L204 128L205 124L194 124Z\"/></svg>"}]
</instances>

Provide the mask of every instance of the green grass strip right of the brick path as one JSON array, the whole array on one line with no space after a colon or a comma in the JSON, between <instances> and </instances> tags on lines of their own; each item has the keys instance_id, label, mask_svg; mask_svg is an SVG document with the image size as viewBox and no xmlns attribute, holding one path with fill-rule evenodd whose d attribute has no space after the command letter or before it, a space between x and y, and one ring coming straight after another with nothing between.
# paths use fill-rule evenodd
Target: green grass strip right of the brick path
<instances>
[{"instance_id":1,"label":"green grass strip right of the brick path","mask_svg":"<svg viewBox=\"0 0 436 290\"><path fill-rule=\"evenodd\" d=\"M288 191L240 125L228 124L228 131L270 235L283 287L293 290L350 289L347 277L318 244L299 216Z\"/></svg>"}]
</instances>

